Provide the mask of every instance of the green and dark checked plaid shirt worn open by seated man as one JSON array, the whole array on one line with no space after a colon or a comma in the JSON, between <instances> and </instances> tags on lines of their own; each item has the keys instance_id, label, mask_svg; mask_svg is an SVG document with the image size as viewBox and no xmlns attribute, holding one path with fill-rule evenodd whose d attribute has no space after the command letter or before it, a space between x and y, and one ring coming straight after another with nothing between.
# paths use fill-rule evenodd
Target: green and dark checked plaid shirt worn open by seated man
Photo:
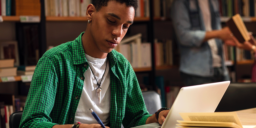
<instances>
[{"instance_id":1,"label":"green and dark checked plaid shirt worn open by seated man","mask_svg":"<svg viewBox=\"0 0 256 128\"><path fill-rule=\"evenodd\" d=\"M76 109L89 68L82 35L48 50L40 58L29 89L20 128L51 128L74 124ZM143 125L151 116L146 110L137 77L125 57L115 50L110 62L111 128ZM91 115L88 115L91 116Z\"/></svg>"}]
</instances>

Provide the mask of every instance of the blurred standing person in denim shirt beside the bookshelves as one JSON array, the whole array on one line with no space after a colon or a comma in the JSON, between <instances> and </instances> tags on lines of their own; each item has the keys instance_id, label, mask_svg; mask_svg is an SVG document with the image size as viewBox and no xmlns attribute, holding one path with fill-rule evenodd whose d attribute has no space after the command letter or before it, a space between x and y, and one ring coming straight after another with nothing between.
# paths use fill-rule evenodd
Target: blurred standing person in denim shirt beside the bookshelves
<instances>
[{"instance_id":1,"label":"blurred standing person in denim shirt beside the bookshelves","mask_svg":"<svg viewBox=\"0 0 256 128\"><path fill-rule=\"evenodd\" d=\"M175 0L171 18L185 85L230 80L222 43L231 45L233 38L228 27L221 29L218 0Z\"/></svg>"}]
</instances>

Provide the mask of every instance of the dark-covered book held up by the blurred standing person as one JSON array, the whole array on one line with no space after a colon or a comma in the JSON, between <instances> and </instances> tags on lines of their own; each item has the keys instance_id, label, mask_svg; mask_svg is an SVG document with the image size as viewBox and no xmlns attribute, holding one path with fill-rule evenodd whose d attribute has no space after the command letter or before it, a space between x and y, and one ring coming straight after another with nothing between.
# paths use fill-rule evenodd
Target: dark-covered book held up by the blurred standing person
<instances>
[{"instance_id":1,"label":"dark-covered book held up by the blurred standing person","mask_svg":"<svg viewBox=\"0 0 256 128\"><path fill-rule=\"evenodd\" d=\"M226 24L239 42L243 43L251 39L239 14L232 16Z\"/></svg>"}]
</instances>

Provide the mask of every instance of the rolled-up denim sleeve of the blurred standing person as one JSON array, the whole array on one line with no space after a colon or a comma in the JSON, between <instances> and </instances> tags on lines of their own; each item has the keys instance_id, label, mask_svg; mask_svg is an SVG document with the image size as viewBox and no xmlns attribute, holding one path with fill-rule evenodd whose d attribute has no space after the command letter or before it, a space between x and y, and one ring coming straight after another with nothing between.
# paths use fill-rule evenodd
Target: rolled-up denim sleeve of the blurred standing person
<instances>
[{"instance_id":1,"label":"rolled-up denim sleeve of the blurred standing person","mask_svg":"<svg viewBox=\"0 0 256 128\"><path fill-rule=\"evenodd\" d=\"M183 0L176 0L172 5L171 18L176 37L180 45L200 47L206 32L202 30L192 30L188 9Z\"/></svg>"}]
</instances>

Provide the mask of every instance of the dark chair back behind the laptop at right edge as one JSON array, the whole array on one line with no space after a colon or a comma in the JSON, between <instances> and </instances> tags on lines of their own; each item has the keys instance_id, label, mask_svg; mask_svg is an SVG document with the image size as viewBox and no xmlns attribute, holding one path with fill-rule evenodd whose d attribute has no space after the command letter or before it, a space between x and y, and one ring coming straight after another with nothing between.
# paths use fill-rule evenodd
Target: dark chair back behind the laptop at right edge
<instances>
[{"instance_id":1,"label":"dark chair back behind the laptop at right edge","mask_svg":"<svg viewBox=\"0 0 256 128\"><path fill-rule=\"evenodd\" d=\"M230 83L215 112L256 107L256 83Z\"/></svg>"}]
</instances>

